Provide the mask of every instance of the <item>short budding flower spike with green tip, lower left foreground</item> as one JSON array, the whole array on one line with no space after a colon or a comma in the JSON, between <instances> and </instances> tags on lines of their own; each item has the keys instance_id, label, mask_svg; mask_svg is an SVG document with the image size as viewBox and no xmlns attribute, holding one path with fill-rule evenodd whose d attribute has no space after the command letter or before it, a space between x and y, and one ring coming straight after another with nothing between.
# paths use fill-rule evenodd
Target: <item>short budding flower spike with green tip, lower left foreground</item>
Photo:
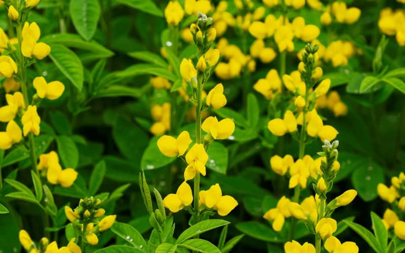
<instances>
[{"instance_id":1,"label":"short budding flower spike with green tip, lower left foreground","mask_svg":"<svg viewBox=\"0 0 405 253\"><path fill-rule=\"evenodd\" d=\"M90 197L80 199L79 205L74 209L65 206L65 215L73 224L78 241L96 245L97 235L114 224L116 215L104 216L105 210L99 207L100 204L100 199ZM104 218L100 219L101 217Z\"/></svg>"}]
</instances>

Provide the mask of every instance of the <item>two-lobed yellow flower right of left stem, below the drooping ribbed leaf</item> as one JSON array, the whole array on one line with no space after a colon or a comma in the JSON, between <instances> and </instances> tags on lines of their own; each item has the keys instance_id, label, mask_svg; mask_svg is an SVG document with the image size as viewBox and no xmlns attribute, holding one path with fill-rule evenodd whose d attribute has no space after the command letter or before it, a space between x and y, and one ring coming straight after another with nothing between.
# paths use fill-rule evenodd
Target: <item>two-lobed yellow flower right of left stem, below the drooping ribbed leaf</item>
<instances>
[{"instance_id":1,"label":"two-lobed yellow flower right of left stem, below the drooping ribbed leaf","mask_svg":"<svg viewBox=\"0 0 405 253\"><path fill-rule=\"evenodd\" d=\"M47 83L43 76L35 77L33 86L39 98L47 98L49 100L56 100L62 96L65 86L60 81L51 81Z\"/></svg>"}]
</instances>

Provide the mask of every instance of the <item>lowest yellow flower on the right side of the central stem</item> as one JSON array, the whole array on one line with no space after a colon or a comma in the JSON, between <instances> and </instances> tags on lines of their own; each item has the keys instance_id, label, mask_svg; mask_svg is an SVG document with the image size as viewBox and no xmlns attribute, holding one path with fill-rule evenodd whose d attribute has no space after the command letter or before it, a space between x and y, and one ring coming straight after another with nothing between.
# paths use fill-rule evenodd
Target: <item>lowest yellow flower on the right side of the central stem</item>
<instances>
[{"instance_id":1,"label":"lowest yellow flower on the right side of the central stem","mask_svg":"<svg viewBox=\"0 0 405 253\"><path fill-rule=\"evenodd\" d=\"M203 193L203 196L203 203L208 208L217 210L218 215L220 216L228 215L231 210L233 210L238 205L237 201L233 197L229 195L222 196L222 191L219 184L211 186L209 190Z\"/></svg>"}]
</instances>

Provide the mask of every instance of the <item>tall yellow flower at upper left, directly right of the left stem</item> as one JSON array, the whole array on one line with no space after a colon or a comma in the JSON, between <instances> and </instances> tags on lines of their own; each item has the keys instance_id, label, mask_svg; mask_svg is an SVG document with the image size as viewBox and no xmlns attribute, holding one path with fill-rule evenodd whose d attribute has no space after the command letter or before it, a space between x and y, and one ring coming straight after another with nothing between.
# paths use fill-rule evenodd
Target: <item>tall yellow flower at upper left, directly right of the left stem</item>
<instances>
[{"instance_id":1,"label":"tall yellow flower at upper left, directly right of the left stem","mask_svg":"<svg viewBox=\"0 0 405 253\"><path fill-rule=\"evenodd\" d=\"M21 53L23 56L35 56L39 60L42 60L49 55L51 48L43 42L37 43L39 36L41 36L41 30L35 22L31 24L28 22L24 23L21 42Z\"/></svg>"}]
</instances>

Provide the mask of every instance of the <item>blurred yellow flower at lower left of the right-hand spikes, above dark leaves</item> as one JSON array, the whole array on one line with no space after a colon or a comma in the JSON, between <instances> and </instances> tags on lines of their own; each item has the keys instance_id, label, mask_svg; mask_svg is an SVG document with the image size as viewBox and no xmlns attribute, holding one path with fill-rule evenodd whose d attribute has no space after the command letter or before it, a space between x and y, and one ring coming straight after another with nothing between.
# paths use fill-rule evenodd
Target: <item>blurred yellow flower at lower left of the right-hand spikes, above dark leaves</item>
<instances>
[{"instance_id":1,"label":"blurred yellow flower at lower left of the right-hand spikes, above dark leaves","mask_svg":"<svg viewBox=\"0 0 405 253\"><path fill-rule=\"evenodd\" d=\"M291 217L288 205L290 204L290 199L282 196L275 208L271 208L264 215L263 218L269 221L273 221L271 225L274 231L281 231L282 226L284 226L285 218Z\"/></svg>"}]
</instances>

